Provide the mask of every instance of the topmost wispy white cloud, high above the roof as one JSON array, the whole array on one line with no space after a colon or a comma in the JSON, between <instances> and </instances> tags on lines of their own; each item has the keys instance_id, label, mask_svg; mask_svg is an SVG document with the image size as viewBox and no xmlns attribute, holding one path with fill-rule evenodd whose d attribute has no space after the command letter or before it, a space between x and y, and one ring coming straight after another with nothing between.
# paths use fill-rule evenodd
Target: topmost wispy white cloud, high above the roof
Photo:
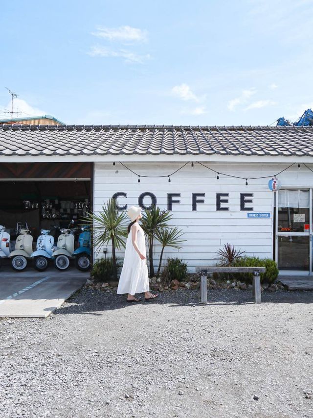
<instances>
[{"instance_id":1,"label":"topmost wispy white cloud, high above the roof","mask_svg":"<svg viewBox=\"0 0 313 418\"><path fill-rule=\"evenodd\" d=\"M116 28L110 27L97 27L96 32L92 32L91 35L98 38L108 39L110 41L119 42L143 42L147 40L147 31L141 30L131 26L120 26Z\"/></svg>"}]
</instances>

